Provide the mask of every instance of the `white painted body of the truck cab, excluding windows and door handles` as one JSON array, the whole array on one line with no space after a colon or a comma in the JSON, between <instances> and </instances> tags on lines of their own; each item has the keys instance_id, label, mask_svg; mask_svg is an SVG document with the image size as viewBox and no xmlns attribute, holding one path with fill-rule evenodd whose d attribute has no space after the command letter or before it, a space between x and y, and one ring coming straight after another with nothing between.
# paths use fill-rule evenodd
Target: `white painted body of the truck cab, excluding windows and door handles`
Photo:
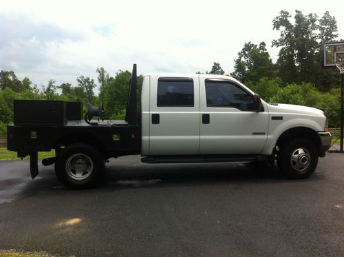
<instances>
[{"instance_id":1,"label":"white painted body of the truck cab, excluding windows and door handles","mask_svg":"<svg viewBox=\"0 0 344 257\"><path fill-rule=\"evenodd\" d=\"M159 78L191 78L194 81L193 107L158 107ZM283 132L292 127L308 127L321 132L323 111L301 105L270 105L261 101L264 112L241 111L234 107L207 107L206 79L246 86L228 76L196 74L149 74L142 88L142 156L197 154L270 155ZM151 115L159 114L160 123L152 124ZM210 123L202 124L202 114ZM271 120L282 116L281 120Z\"/></svg>"}]
</instances>

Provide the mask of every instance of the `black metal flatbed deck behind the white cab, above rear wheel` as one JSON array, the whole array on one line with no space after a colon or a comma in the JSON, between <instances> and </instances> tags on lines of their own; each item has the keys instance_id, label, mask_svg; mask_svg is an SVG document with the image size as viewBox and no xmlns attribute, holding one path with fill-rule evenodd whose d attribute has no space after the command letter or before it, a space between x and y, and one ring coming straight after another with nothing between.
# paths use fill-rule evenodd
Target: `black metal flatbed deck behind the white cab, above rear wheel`
<instances>
[{"instance_id":1,"label":"black metal flatbed deck behind the white cab, above rear wheel","mask_svg":"<svg viewBox=\"0 0 344 257\"><path fill-rule=\"evenodd\" d=\"M67 121L63 126L9 125L8 150L18 152L20 157L52 149L59 152L65 145L82 141L96 145L107 158L140 153L139 125L114 120L94 122L98 125L89 125L83 120Z\"/></svg>"}]
</instances>

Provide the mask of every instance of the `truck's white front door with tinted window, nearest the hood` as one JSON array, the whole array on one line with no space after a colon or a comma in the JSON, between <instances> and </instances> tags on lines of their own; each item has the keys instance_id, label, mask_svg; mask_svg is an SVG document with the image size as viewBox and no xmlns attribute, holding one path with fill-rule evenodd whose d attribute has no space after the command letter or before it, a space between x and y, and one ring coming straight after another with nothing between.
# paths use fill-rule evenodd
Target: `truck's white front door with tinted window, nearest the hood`
<instances>
[{"instance_id":1,"label":"truck's white front door with tinted window, nearest the hood","mask_svg":"<svg viewBox=\"0 0 344 257\"><path fill-rule=\"evenodd\" d=\"M268 111L252 111L253 95L229 79L200 79L200 154L259 154Z\"/></svg>"}]
</instances>

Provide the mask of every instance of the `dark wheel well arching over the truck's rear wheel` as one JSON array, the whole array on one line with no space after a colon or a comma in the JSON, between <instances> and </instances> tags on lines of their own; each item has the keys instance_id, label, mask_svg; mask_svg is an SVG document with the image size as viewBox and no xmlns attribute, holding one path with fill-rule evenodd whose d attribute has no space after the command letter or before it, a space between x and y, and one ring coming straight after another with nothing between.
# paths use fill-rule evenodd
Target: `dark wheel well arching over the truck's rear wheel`
<instances>
[{"instance_id":1,"label":"dark wheel well arching over the truck's rear wheel","mask_svg":"<svg viewBox=\"0 0 344 257\"><path fill-rule=\"evenodd\" d=\"M71 145L73 143L85 143L87 145L92 145L95 147L100 154L105 155L105 145L102 143L98 138L90 135L90 134L67 134L56 141L54 143L53 148L58 152L61 147L66 147L67 145Z\"/></svg>"}]
</instances>

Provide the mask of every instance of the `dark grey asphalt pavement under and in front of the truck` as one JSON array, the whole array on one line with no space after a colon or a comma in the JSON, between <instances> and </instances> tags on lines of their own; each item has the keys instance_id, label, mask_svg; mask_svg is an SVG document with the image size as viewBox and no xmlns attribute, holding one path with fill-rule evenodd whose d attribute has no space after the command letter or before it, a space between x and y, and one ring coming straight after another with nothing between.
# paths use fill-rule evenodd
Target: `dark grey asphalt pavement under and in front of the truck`
<instances>
[{"instance_id":1,"label":"dark grey asphalt pavement under and in front of the truck","mask_svg":"<svg viewBox=\"0 0 344 257\"><path fill-rule=\"evenodd\" d=\"M58 256L344 256L344 154L286 180L251 163L111 159L73 191L54 167L0 161L0 249Z\"/></svg>"}]
</instances>

